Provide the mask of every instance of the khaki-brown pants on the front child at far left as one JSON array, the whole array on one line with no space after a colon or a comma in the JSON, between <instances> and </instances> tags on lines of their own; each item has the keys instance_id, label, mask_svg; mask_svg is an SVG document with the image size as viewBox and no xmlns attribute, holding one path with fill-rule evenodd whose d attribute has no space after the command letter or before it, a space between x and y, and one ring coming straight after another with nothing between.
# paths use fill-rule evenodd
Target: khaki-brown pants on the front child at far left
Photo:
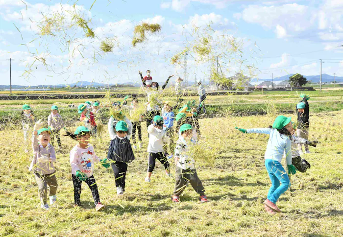
<instances>
[{"instance_id":1,"label":"khaki-brown pants on the front child at far left","mask_svg":"<svg viewBox=\"0 0 343 237\"><path fill-rule=\"evenodd\" d=\"M49 196L56 195L57 191L57 180L55 173L53 174L38 174L35 173L36 182L38 185L39 197L43 205L47 204L47 193L49 186Z\"/></svg>"}]
</instances>

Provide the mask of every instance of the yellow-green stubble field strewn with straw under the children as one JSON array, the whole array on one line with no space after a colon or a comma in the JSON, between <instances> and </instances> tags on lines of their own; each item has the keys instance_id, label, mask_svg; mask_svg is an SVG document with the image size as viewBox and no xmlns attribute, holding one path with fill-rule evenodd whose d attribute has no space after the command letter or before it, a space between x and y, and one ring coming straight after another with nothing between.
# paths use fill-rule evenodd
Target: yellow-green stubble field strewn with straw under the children
<instances>
[{"instance_id":1,"label":"yellow-green stubble field strewn with straw under the children","mask_svg":"<svg viewBox=\"0 0 343 237\"><path fill-rule=\"evenodd\" d=\"M75 142L62 138L63 150L57 152L55 164L58 202L45 212L39 208L34 175L27 170L31 156L24 153L20 127L2 130L0 236L341 236L343 111L311 113L310 140L320 142L303 156L311 169L291 177L291 191L278 202L283 213L270 216L262 205L270 187L263 158L268 136L242 134L234 127L267 127L275 116L199 120L203 147L208 159L214 158L208 166L204 157L195 157L209 199L206 204L197 201L190 186L181 203L172 203L174 180L164 175L158 162L152 182L144 182L147 132L143 129L144 148L135 151L136 160L128 167L123 197L116 195L112 170L97 166L94 176L106 205L98 213L85 184L82 208L73 207L69 152ZM92 143L98 156L106 157L107 132Z\"/></svg>"}]
</instances>

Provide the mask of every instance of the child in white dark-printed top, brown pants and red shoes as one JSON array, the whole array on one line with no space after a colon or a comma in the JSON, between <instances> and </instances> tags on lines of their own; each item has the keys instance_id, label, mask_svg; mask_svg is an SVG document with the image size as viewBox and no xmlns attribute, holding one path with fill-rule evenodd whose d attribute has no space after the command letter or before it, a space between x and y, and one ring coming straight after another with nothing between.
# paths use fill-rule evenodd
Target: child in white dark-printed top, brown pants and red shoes
<instances>
[{"instance_id":1,"label":"child in white dark-printed top, brown pants and red shoes","mask_svg":"<svg viewBox=\"0 0 343 237\"><path fill-rule=\"evenodd\" d=\"M205 196L205 189L202 186L201 180L197 176L196 168L194 167L194 159L189 154L188 144L195 143L192 139L193 127L190 124L183 124L180 127L181 136L176 142L175 148L175 177L176 183L174 193L172 195L173 202L179 202L181 193L186 189L186 184L189 181L196 193L200 195L199 199L201 203L207 202Z\"/></svg>"}]
</instances>

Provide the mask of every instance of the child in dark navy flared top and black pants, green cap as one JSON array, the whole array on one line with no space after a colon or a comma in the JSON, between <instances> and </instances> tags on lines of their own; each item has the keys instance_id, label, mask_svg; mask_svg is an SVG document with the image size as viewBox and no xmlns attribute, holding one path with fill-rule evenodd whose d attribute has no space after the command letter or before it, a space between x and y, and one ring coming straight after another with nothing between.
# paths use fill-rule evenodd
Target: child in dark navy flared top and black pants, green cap
<instances>
[{"instance_id":1,"label":"child in dark navy flared top and black pants, green cap","mask_svg":"<svg viewBox=\"0 0 343 237\"><path fill-rule=\"evenodd\" d=\"M130 140L127 137L127 130L128 125L122 120L117 122L115 130L113 126L110 126L108 131L111 143L108 148L107 158L113 161L111 166L116 179L117 195L122 195L125 191L127 163L135 159Z\"/></svg>"}]
</instances>

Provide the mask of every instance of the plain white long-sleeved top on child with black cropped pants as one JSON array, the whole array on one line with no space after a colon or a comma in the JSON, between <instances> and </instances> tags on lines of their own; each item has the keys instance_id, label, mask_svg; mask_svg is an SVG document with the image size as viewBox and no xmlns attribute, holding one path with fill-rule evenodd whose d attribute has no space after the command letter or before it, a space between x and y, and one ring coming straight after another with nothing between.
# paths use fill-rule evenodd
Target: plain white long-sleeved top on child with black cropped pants
<instances>
[{"instance_id":1,"label":"plain white long-sleeved top on child with black cropped pants","mask_svg":"<svg viewBox=\"0 0 343 237\"><path fill-rule=\"evenodd\" d=\"M149 144L147 146L147 152L157 153L163 152L163 143L168 142L166 131L163 129L157 129L153 124L147 127L149 133Z\"/></svg>"}]
</instances>

